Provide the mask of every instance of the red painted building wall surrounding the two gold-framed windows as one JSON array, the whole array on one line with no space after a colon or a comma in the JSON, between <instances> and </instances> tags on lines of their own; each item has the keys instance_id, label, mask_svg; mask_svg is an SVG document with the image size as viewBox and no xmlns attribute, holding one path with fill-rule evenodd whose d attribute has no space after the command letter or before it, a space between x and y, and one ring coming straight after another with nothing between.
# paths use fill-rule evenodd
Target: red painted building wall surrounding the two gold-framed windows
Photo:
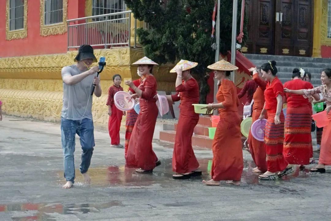
<instances>
[{"instance_id":1,"label":"red painted building wall surrounding the two gold-framed windows","mask_svg":"<svg viewBox=\"0 0 331 221\"><path fill-rule=\"evenodd\" d=\"M40 36L40 1L27 1L27 37L6 40L6 1L0 3L0 57L16 57L67 52L67 33ZM68 20L85 17L85 1L68 1Z\"/></svg>"}]
</instances>

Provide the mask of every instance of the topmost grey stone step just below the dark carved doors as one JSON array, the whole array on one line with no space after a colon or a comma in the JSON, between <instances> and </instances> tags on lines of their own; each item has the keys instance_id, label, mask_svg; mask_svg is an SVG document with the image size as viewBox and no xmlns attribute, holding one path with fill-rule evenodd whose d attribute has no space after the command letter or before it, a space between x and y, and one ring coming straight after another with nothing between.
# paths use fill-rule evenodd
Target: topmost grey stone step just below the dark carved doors
<instances>
[{"instance_id":1,"label":"topmost grey stone step just below the dark carved doors","mask_svg":"<svg viewBox=\"0 0 331 221\"><path fill-rule=\"evenodd\" d=\"M263 61L293 61L293 62L310 62L310 63L331 63L330 58L309 58L309 57L295 57L295 56L281 56L281 55L256 55L245 54L249 60L263 60Z\"/></svg>"}]
</instances>

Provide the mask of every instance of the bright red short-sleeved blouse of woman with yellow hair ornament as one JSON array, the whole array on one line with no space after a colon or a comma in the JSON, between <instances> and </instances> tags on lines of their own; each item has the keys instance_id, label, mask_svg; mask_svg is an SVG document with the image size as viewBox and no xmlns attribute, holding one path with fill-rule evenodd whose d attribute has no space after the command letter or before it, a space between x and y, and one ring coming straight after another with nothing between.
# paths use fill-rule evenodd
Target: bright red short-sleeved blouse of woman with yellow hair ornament
<instances>
[{"instance_id":1,"label":"bright red short-sleeved blouse of woman with yellow hair ornament","mask_svg":"<svg viewBox=\"0 0 331 221\"><path fill-rule=\"evenodd\" d=\"M284 96L284 87L282 82L275 77L272 82L268 82L267 86L264 90L264 99L265 99L265 109L277 109L277 96L281 95L282 98Z\"/></svg>"}]
</instances>

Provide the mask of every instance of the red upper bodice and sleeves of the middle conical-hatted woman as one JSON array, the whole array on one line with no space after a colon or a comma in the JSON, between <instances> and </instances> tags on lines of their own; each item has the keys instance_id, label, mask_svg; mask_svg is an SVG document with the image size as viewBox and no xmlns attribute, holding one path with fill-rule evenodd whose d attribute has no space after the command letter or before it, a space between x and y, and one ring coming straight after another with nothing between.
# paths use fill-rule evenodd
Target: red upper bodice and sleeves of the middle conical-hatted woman
<instances>
[{"instance_id":1,"label":"red upper bodice and sleeves of the middle conical-hatted woman","mask_svg":"<svg viewBox=\"0 0 331 221\"><path fill-rule=\"evenodd\" d=\"M192 108L192 104L199 103L199 85L194 78L190 78L186 82L182 80L182 84L176 87L176 91L177 94L171 95L171 98L172 101L180 100L179 108Z\"/></svg>"}]
</instances>

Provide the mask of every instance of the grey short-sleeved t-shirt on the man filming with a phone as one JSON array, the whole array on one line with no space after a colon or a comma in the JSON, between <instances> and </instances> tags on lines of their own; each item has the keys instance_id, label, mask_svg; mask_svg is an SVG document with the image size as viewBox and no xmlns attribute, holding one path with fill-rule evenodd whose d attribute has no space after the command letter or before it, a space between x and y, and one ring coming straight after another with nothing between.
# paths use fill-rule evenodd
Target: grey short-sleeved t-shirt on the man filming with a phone
<instances>
[{"instance_id":1,"label":"grey short-sleeved t-shirt on the man filming with a phone","mask_svg":"<svg viewBox=\"0 0 331 221\"><path fill-rule=\"evenodd\" d=\"M66 75L74 76L81 74L76 65L62 68L62 79ZM88 75L81 82L68 85L63 83L63 108L61 117L69 120L80 120L88 118L92 120L92 82L97 73ZM84 113L85 112L85 113Z\"/></svg>"}]
</instances>

